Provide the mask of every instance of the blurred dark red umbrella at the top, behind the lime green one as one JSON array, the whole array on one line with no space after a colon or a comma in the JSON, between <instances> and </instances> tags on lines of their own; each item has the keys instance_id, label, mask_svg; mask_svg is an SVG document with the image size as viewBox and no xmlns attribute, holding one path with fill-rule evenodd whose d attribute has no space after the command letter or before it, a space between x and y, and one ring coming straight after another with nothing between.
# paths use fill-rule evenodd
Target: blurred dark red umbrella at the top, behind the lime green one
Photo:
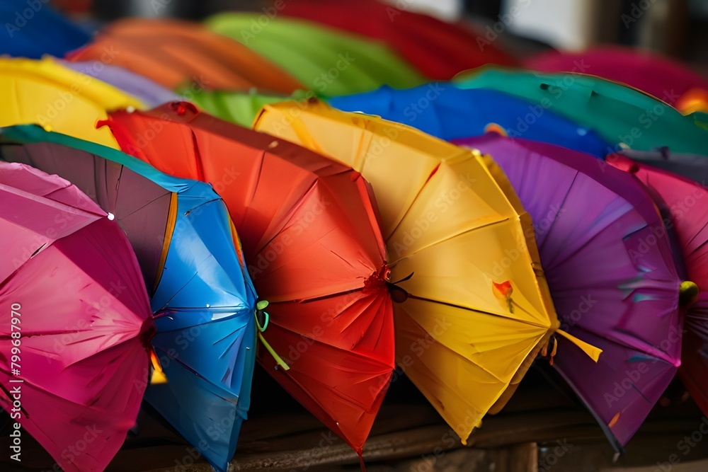
<instances>
[{"instance_id":1,"label":"blurred dark red umbrella at the top, behind the lime green one","mask_svg":"<svg viewBox=\"0 0 708 472\"><path fill-rule=\"evenodd\" d=\"M431 79L450 79L484 64L516 65L478 31L377 0L299 0L282 9L287 16L382 40Z\"/></svg>"}]
</instances>

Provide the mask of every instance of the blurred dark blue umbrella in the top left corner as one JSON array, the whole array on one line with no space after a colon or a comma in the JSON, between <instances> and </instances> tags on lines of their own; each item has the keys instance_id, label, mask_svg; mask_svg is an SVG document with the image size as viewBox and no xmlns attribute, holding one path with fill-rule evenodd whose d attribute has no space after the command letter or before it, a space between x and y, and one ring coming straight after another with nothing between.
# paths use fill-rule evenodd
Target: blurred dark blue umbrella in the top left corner
<instances>
[{"instance_id":1,"label":"blurred dark blue umbrella in the top left corner","mask_svg":"<svg viewBox=\"0 0 708 472\"><path fill-rule=\"evenodd\" d=\"M0 54L31 59L45 54L61 57L91 39L42 0L0 2L0 18L6 30L0 40Z\"/></svg>"}]
</instances>

